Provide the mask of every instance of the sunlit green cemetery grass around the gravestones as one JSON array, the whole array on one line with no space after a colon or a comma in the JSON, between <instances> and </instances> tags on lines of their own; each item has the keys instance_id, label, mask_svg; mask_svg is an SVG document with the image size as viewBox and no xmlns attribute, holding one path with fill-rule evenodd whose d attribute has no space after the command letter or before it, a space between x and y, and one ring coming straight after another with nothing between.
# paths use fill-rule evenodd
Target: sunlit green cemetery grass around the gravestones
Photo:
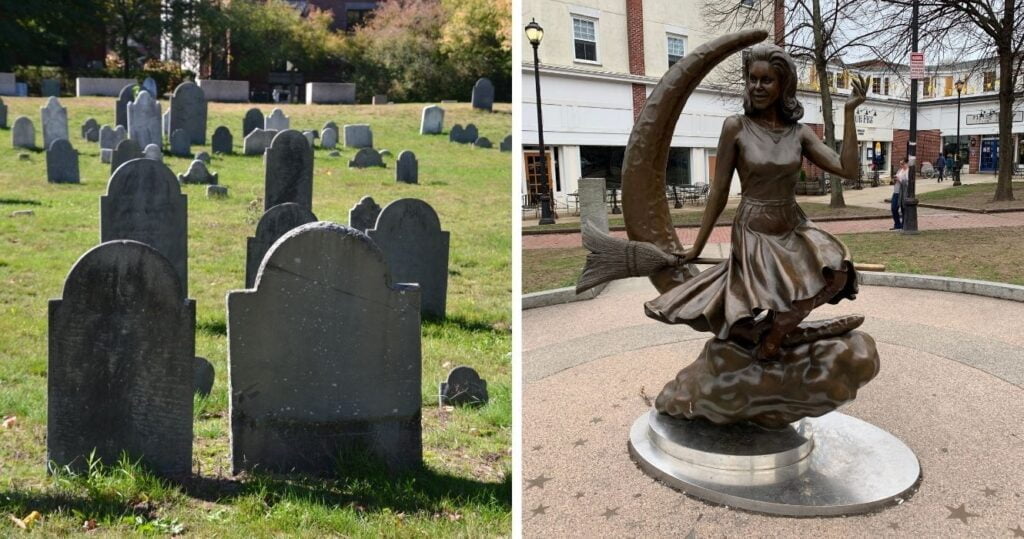
<instances>
[{"instance_id":1,"label":"sunlit green cemetery grass around the gravestones","mask_svg":"<svg viewBox=\"0 0 1024 539\"><path fill-rule=\"evenodd\" d=\"M511 533L511 157L500 141L512 129L508 105L496 113L446 103L445 134L421 136L424 105L281 106L293 129L368 123L388 168L355 170L355 152L341 157L316 149L313 213L345 223L348 210L371 195L381 205L419 198L452 233L447 318L423 324L423 449L425 467L388 476L356 461L333 480L300 476L231 476L228 444L225 294L244 288L246 238L263 212L263 161L242 151L242 118L253 105L210 103L207 146L219 125L231 130L236 154L214 156L211 170L230 190L207 199L206 185L184 185L188 197L188 274L197 300L196 353L216 369L213 392L197 398L193 478L181 484L155 480L130 462L105 470L48 475L46 460L47 301L59 298L65 277L80 255L98 243L99 196L110 165L97 143L80 136L88 117L114 123L114 97L61 99L72 144L80 153L81 184L50 184L42 152L14 150L0 129L0 536L15 533L9 519L39 511L32 528L45 535L82 530L95 521L104 536L129 533L209 536L499 536ZM5 97L8 125L28 116L42 144L42 98ZM163 111L167 100L162 100ZM269 114L271 106L258 106ZM472 122L495 150L447 141L456 123ZM166 144L166 139L165 139ZM394 160L402 150L419 159L420 183L396 183ZM22 159L26 156L26 159ZM175 173L189 159L165 150ZM11 216L31 210L31 216ZM447 371L469 365L487 380L490 402L480 408L439 408L437 385ZM90 524L91 526L91 524Z\"/></svg>"}]
</instances>

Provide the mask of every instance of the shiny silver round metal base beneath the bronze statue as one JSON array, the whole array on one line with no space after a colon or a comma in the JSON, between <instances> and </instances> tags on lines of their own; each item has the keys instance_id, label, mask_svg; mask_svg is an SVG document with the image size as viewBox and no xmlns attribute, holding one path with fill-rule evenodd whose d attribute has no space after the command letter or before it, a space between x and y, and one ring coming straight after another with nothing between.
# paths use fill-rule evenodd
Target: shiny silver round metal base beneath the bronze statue
<instances>
[{"instance_id":1,"label":"shiny silver round metal base beneath the bronze statue","mask_svg":"<svg viewBox=\"0 0 1024 539\"><path fill-rule=\"evenodd\" d=\"M651 409L633 423L629 446L640 468L670 487L790 516L878 509L902 498L921 476L910 448L839 412L766 430L675 419Z\"/></svg>"}]
</instances>

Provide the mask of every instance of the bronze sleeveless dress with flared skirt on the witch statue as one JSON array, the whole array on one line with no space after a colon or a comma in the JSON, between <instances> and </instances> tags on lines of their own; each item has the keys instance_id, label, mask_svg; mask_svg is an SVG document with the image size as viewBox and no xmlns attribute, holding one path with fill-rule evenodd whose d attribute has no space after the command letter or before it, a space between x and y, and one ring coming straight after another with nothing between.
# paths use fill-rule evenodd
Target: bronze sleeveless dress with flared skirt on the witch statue
<instances>
[{"instance_id":1,"label":"bronze sleeveless dress with flared skirt on the witch statue","mask_svg":"<svg viewBox=\"0 0 1024 539\"><path fill-rule=\"evenodd\" d=\"M728 338L737 322L750 323L764 310L792 310L794 301L816 296L831 272L846 271L849 278L829 303L857 293L850 251L797 205L800 124L769 129L739 119L736 169L742 198L729 258L645 304L650 318L720 339Z\"/></svg>"}]
</instances>

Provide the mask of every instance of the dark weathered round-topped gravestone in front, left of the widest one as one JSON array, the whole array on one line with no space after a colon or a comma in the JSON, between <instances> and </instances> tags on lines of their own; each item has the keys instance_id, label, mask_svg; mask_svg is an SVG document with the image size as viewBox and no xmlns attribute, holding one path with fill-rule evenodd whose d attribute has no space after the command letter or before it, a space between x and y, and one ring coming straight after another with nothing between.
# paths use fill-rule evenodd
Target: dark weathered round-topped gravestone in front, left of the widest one
<instances>
[{"instance_id":1,"label":"dark weathered round-topped gravestone in front, left of the widest one","mask_svg":"<svg viewBox=\"0 0 1024 539\"><path fill-rule=\"evenodd\" d=\"M167 258L132 241L75 262L49 303L46 459L88 469L122 453L166 478L191 472L196 302Z\"/></svg>"}]
</instances>

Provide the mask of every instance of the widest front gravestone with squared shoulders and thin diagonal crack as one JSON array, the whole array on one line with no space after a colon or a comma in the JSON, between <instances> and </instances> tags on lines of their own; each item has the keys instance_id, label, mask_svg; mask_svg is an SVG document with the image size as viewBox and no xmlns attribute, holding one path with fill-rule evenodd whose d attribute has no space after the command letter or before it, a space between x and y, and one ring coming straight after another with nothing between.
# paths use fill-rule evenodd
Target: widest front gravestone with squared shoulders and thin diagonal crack
<instances>
[{"instance_id":1,"label":"widest front gravestone with squared shoulders and thin diagonal crack","mask_svg":"<svg viewBox=\"0 0 1024 539\"><path fill-rule=\"evenodd\" d=\"M422 465L420 293L393 282L370 239L321 221L227 294L236 473L332 474L351 451L392 472Z\"/></svg>"}]
</instances>

